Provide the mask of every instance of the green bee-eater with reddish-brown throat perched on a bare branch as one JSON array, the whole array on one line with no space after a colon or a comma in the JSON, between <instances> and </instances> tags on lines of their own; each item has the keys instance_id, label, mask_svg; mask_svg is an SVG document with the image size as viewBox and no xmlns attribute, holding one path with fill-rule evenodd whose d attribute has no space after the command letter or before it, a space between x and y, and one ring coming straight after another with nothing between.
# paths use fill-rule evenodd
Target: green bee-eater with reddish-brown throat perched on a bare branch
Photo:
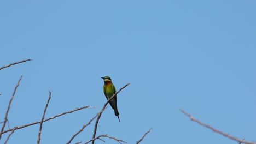
<instances>
[{"instance_id":1,"label":"green bee-eater with reddish-brown throat perched on a bare branch","mask_svg":"<svg viewBox=\"0 0 256 144\"><path fill-rule=\"evenodd\" d=\"M105 76L105 77L101 77L104 80L104 85L103 85L103 92L105 94L105 97L107 99L111 98L114 94L115 94L115 86L113 85L111 79L109 76ZM117 96L115 96L113 99L111 99L109 101L110 106L112 107L112 109L115 112L115 116L118 117L118 120L120 122L119 119L119 112L117 109Z\"/></svg>"}]
</instances>

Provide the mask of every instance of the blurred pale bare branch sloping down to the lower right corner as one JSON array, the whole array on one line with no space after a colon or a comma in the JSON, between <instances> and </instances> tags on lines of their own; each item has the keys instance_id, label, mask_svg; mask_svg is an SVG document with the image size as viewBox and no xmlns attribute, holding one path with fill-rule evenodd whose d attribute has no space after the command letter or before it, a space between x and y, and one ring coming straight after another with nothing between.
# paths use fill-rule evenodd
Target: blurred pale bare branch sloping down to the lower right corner
<instances>
[{"instance_id":1,"label":"blurred pale bare branch sloping down to the lower right corner","mask_svg":"<svg viewBox=\"0 0 256 144\"><path fill-rule=\"evenodd\" d=\"M226 133L223 133L222 131L213 128L211 125L207 125L207 124L205 124L205 123L202 123L201 121L199 121L198 119L194 118L193 116L191 116L189 113L185 112L184 110L180 109L180 111L181 111L184 115L188 116L188 117L191 119L191 121L194 121L194 122L196 122L196 123L199 123L200 125L203 125L203 127L206 127L206 128L208 128L208 129L211 129L211 130L213 130L213 131L216 132L216 133L219 133L219 134L221 134L221 135L223 135L223 136L225 136L225 137L228 137L229 139L238 141L238 142L240 142L240 143L256 144L256 143L254 143L254 142L245 141L245 140L240 140L240 139L238 139L238 138L236 138L236 137L234 137L234 136L231 136L231 135L228 135L228 134L226 134Z\"/></svg>"}]
</instances>

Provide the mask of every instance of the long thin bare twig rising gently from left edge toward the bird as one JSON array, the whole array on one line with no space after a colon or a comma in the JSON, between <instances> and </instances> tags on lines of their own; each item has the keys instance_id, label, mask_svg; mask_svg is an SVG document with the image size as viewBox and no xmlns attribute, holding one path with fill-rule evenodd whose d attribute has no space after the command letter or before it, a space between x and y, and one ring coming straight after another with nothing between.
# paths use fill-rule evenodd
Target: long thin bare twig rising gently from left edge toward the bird
<instances>
[{"instance_id":1,"label":"long thin bare twig rising gently from left edge toward the bird","mask_svg":"<svg viewBox=\"0 0 256 144\"><path fill-rule=\"evenodd\" d=\"M49 120L54 119L54 118L56 118L56 117L60 117L60 116L62 116L62 115L66 115L66 114L68 114L68 113L72 113L72 112L74 112L74 111L86 109L86 108L95 108L95 106L83 106L83 107L79 107L79 108L74 109L74 110L72 110L72 111L66 111L66 112L63 112L63 113L61 113L61 114L59 114L59 115L55 115L55 116L53 116L53 117L44 119L43 122L49 121ZM11 131L11 130L14 130L14 129L16 130L16 129L22 129L22 128L25 128L25 127L29 127L29 126L31 126L31 125L38 124L38 123L40 123L40 122L41 122L41 121L33 122L33 123L21 125L21 126L19 126L19 127L14 127L14 128L8 129L8 130L4 130L2 134L7 133L8 131Z\"/></svg>"}]
</instances>

